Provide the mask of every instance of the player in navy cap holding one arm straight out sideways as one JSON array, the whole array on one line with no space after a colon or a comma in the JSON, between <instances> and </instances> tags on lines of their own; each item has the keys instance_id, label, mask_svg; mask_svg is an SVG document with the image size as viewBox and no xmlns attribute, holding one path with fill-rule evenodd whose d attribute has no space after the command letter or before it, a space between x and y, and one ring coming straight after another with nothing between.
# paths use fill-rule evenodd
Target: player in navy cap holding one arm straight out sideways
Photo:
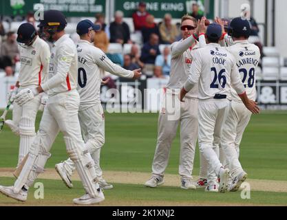
<instances>
[{"instance_id":1,"label":"player in navy cap holding one arm straight out sideways","mask_svg":"<svg viewBox=\"0 0 287 220\"><path fill-rule=\"evenodd\" d=\"M103 179L100 168L100 149L105 143L105 117L103 107L100 104L100 84L103 74L109 72L125 78L139 78L140 69L129 71L112 63L105 53L98 47L94 47L95 30L100 30L100 25L94 25L92 21L83 20L78 23L76 31L80 36L77 43L78 50L78 93L80 94L80 108L78 118L87 150L94 159L94 166L100 188L113 188ZM72 159L67 159L56 164L56 170L67 185L72 188L71 176L76 166Z\"/></svg>"}]
</instances>

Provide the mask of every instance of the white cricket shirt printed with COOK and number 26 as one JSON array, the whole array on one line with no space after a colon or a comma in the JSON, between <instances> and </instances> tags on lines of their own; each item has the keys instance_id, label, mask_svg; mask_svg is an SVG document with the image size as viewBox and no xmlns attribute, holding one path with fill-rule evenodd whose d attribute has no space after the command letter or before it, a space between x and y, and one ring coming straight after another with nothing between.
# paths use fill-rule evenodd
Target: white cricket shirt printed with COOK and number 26
<instances>
[{"instance_id":1,"label":"white cricket shirt printed with COOK and number 26","mask_svg":"<svg viewBox=\"0 0 287 220\"><path fill-rule=\"evenodd\" d=\"M217 43L209 43L193 54L189 78L184 89L190 91L197 84L200 100L213 98L215 94L230 98L231 85L237 94L243 94L245 91L234 56L226 47L220 47Z\"/></svg>"}]
</instances>

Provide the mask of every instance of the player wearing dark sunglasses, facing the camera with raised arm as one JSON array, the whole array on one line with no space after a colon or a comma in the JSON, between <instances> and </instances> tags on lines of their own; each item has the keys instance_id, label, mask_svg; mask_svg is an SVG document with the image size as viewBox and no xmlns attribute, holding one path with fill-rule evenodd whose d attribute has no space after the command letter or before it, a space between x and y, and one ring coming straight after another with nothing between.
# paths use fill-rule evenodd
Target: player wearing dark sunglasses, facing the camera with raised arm
<instances>
[{"instance_id":1,"label":"player wearing dark sunglasses, facing the camera with raised arm","mask_svg":"<svg viewBox=\"0 0 287 220\"><path fill-rule=\"evenodd\" d=\"M204 25L204 19L201 24ZM195 189L191 182L195 144L198 138L198 87L187 94L186 102L180 103L178 94L189 76L193 52L198 50L195 28L196 19L184 15L181 21L182 40L171 45L171 74L158 117L158 140L153 157L152 176L145 186L156 187L164 182L164 170L169 162L171 143L180 124L181 188ZM202 37L204 35L202 34ZM175 104L173 104L175 103ZM173 108L174 107L174 108ZM173 111L174 110L174 111Z\"/></svg>"}]
</instances>

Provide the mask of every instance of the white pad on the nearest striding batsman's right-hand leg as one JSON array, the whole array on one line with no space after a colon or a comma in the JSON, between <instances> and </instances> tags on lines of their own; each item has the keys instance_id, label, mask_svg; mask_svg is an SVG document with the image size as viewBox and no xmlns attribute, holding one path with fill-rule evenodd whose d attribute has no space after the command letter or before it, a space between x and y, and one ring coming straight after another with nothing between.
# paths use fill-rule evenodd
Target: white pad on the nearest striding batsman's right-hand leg
<instances>
[{"instance_id":1,"label":"white pad on the nearest striding batsman's right-hand leg","mask_svg":"<svg viewBox=\"0 0 287 220\"><path fill-rule=\"evenodd\" d=\"M83 183L83 186L87 193L92 197L98 196L96 190L96 177L92 177L91 169L94 169L94 162L91 155L87 151L83 151L83 144L79 141L75 141L72 137L64 137L67 148L67 153L74 162L79 177ZM88 159L89 157L90 160Z\"/></svg>"}]
</instances>

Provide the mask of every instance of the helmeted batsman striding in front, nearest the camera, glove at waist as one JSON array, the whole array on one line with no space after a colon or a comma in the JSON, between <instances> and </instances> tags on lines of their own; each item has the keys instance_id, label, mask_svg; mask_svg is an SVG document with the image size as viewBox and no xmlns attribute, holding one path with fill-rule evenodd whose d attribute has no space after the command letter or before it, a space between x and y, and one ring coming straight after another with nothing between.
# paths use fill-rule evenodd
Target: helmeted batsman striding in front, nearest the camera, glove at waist
<instances>
[{"instance_id":1,"label":"helmeted batsman striding in front, nearest the camera, glove at waist","mask_svg":"<svg viewBox=\"0 0 287 220\"><path fill-rule=\"evenodd\" d=\"M65 34L66 25L67 21L62 12L57 10L44 12L40 27L43 28L47 41L53 43L48 79L39 87L21 90L15 97L15 101L21 106L43 91L49 96L39 131L17 181L14 186L0 186L0 192L19 201L26 201L29 187L39 173L43 172L45 163L51 156L50 148L59 131L63 133L67 154L75 163L77 173L87 192L83 197L74 199L74 203L93 204L105 199L96 182L94 160L89 152L84 151L85 143L78 121L80 97L76 90L78 55L74 42Z\"/></svg>"}]
</instances>

